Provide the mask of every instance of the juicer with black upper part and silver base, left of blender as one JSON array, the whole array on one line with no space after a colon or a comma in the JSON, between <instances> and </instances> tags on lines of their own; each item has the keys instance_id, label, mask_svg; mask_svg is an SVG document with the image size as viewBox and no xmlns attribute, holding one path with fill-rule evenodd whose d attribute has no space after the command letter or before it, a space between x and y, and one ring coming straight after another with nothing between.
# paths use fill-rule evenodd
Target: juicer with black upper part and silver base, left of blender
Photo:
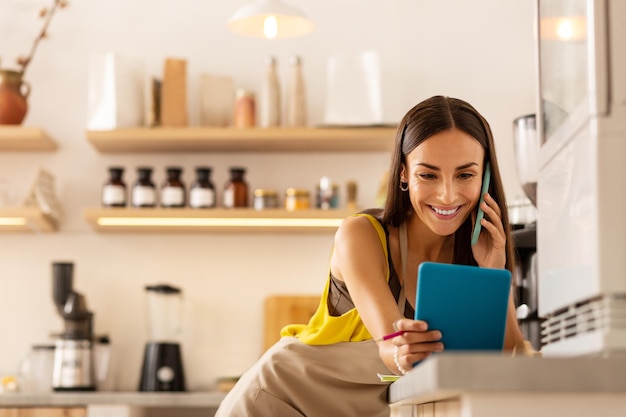
<instances>
[{"instance_id":1,"label":"juicer with black upper part and silver base, left of blender","mask_svg":"<svg viewBox=\"0 0 626 417\"><path fill-rule=\"evenodd\" d=\"M55 343L52 388L55 391L94 391L96 389L93 350L93 313L85 297L73 290L74 264L52 264L52 296L64 322Z\"/></svg>"}]
</instances>

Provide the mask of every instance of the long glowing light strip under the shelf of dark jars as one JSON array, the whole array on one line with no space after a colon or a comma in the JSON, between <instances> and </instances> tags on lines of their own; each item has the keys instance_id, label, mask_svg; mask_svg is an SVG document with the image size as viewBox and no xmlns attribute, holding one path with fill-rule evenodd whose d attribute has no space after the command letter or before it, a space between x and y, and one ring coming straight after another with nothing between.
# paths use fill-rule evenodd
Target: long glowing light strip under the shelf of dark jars
<instances>
[{"instance_id":1,"label":"long glowing light strip under the shelf of dark jars","mask_svg":"<svg viewBox=\"0 0 626 417\"><path fill-rule=\"evenodd\" d=\"M341 219L307 218L179 218L179 217L100 217L98 225L165 227L339 227Z\"/></svg>"}]
</instances>

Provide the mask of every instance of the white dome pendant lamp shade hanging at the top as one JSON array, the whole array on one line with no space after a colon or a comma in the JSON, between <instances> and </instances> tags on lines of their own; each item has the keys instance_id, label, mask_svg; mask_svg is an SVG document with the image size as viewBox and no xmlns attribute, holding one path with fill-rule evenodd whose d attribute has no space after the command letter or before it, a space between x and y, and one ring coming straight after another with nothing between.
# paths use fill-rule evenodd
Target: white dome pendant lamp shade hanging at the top
<instances>
[{"instance_id":1,"label":"white dome pendant lamp shade hanging at the top","mask_svg":"<svg viewBox=\"0 0 626 417\"><path fill-rule=\"evenodd\" d=\"M306 35L315 24L298 8L280 0L258 0L237 10L228 28L244 36L279 39Z\"/></svg>"}]
</instances>

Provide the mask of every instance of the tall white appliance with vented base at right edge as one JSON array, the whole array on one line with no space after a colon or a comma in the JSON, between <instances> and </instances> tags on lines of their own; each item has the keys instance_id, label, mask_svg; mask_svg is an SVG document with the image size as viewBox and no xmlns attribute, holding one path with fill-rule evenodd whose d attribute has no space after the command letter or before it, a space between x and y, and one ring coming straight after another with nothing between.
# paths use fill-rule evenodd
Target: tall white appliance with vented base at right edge
<instances>
[{"instance_id":1,"label":"tall white appliance with vented base at right edge","mask_svg":"<svg viewBox=\"0 0 626 417\"><path fill-rule=\"evenodd\" d=\"M537 0L545 356L626 353L626 2Z\"/></svg>"}]
</instances>

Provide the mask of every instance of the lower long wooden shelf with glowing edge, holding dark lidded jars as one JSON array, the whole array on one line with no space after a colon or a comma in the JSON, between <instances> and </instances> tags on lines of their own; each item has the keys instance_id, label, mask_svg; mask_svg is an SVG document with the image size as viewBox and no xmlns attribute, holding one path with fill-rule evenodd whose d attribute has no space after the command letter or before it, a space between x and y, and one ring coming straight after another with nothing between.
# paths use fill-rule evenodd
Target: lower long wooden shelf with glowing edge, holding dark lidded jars
<instances>
[{"instance_id":1,"label":"lower long wooden shelf with glowing edge, holding dark lidded jars","mask_svg":"<svg viewBox=\"0 0 626 417\"><path fill-rule=\"evenodd\" d=\"M85 220L98 232L142 233L329 233L348 210L87 208Z\"/></svg>"}]
</instances>

